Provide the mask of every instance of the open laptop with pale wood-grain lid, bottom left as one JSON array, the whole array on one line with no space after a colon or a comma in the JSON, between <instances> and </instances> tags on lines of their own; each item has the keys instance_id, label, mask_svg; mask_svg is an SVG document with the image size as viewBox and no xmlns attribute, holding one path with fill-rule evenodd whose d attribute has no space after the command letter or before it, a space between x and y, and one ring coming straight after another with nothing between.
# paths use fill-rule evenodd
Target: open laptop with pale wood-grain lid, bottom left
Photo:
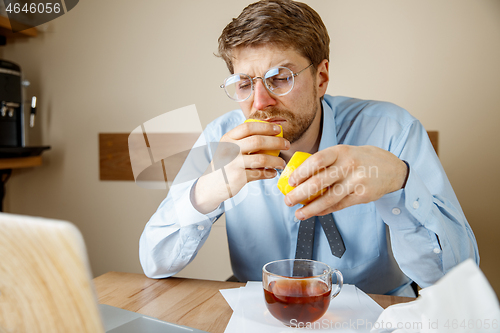
<instances>
[{"instance_id":1,"label":"open laptop with pale wood-grain lid, bottom left","mask_svg":"<svg viewBox=\"0 0 500 333\"><path fill-rule=\"evenodd\" d=\"M98 304L73 224L0 213L0 333L7 332L204 331Z\"/></svg>"}]
</instances>

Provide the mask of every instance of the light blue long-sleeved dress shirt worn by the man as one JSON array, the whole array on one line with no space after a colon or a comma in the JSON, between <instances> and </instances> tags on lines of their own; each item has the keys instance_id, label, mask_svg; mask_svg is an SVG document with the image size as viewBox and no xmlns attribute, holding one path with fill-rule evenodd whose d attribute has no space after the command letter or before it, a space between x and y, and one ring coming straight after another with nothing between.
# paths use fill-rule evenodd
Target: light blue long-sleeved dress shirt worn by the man
<instances>
[{"instance_id":1,"label":"light blue long-sleeved dress shirt worn by the man","mask_svg":"<svg viewBox=\"0 0 500 333\"><path fill-rule=\"evenodd\" d=\"M404 189L333 213L346 247L342 258L332 255L316 222L313 259L339 269L346 283L365 292L396 295L412 295L412 281L427 287L467 258L479 264L474 234L417 119L391 103L329 95L322 109L319 150L337 144L377 146L407 161L410 174ZM219 142L243 121L241 110L217 118L195 147ZM204 158L201 164L206 165L210 154ZM198 168L201 175L201 164L188 158L183 168ZM206 215L190 200L196 180L174 185L140 239L145 274L164 278L179 272L194 259L223 213L231 265L240 281L261 280L265 263L294 258L299 228L295 211L301 205L285 205L276 187L278 177L246 184Z\"/></svg>"}]
</instances>

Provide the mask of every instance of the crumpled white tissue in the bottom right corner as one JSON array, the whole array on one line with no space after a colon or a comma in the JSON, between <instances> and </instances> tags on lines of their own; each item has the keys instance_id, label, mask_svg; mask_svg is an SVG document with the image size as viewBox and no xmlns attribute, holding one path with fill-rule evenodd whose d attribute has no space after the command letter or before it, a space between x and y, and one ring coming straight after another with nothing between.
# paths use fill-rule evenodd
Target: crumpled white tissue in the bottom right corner
<instances>
[{"instance_id":1,"label":"crumpled white tissue in the bottom right corner","mask_svg":"<svg viewBox=\"0 0 500 333\"><path fill-rule=\"evenodd\" d=\"M419 294L416 301L385 309L371 332L500 332L498 299L472 259Z\"/></svg>"}]
</instances>

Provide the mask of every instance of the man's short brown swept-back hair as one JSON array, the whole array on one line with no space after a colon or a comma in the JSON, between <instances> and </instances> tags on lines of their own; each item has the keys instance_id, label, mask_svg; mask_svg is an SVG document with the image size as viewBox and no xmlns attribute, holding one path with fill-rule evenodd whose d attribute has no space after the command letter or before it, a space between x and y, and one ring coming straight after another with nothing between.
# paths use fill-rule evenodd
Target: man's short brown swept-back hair
<instances>
[{"instance_id":1,"label":"man's short brown swept-back hair","mask_svg":"<svg viewBox=\"0 0 500 333\"><path fill-rule=\"evenodd\" d=\"M234 74L235 48L265 44L292 48L315 69L330 56L330 37L321 17L308 5L291 0L261 0L243 9L222 31L218 56Z\"/></svg>"}]
</instances>

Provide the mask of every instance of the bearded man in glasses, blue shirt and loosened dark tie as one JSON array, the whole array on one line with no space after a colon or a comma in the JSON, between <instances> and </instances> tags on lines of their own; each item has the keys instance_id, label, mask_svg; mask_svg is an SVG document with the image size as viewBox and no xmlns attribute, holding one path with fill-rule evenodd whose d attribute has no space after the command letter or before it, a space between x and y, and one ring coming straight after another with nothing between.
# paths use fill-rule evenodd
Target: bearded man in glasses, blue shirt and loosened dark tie
<instances>
[{"instance_id":1,"label":"bearded man in glasses, blue shirt and loosened dark tie","mask_svg":"<svg viewBox=\"0 0 500 333\"><path fill-rule=\"evenodd\" d=\"M209 124L197 146L232 143L241 155L172 188L140 240L148 276L180 271L222 213L240 281L260 280L269 261L310 257L365 292L415 296L412 281L426 287L467 258L479 261L420 122L393 104L325 95L329 37L314 10L288 0L254 3L223 30L219 53L233 74L222 87L241 110ZM268 123L243 123L249 118ZM283 196L277 180L296 151L312 156ZM305 254L304 244L312 246Z\"/></svg>"}]
</instances>

